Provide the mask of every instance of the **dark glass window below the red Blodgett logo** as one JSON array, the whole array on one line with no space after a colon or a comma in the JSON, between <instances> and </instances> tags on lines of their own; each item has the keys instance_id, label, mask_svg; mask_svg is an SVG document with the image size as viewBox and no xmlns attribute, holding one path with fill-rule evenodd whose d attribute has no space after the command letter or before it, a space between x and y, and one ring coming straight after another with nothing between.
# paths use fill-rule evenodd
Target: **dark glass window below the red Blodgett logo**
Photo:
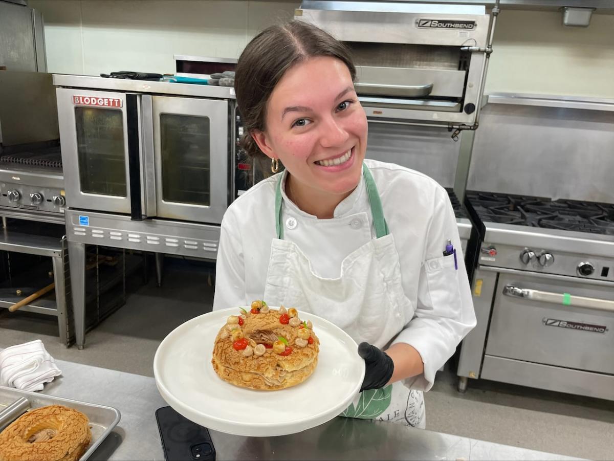
<instances>
[{"instance_id":1,"label":"dark glass window below the red Blodgett logo","mask_svg":"<svg viewBox=\"0 0 614 461\"><path fill-rule=\"evenodd\" d=\"M126 196L121 110L75 107L81 192Z\"/></svg>"}]
</instances>

